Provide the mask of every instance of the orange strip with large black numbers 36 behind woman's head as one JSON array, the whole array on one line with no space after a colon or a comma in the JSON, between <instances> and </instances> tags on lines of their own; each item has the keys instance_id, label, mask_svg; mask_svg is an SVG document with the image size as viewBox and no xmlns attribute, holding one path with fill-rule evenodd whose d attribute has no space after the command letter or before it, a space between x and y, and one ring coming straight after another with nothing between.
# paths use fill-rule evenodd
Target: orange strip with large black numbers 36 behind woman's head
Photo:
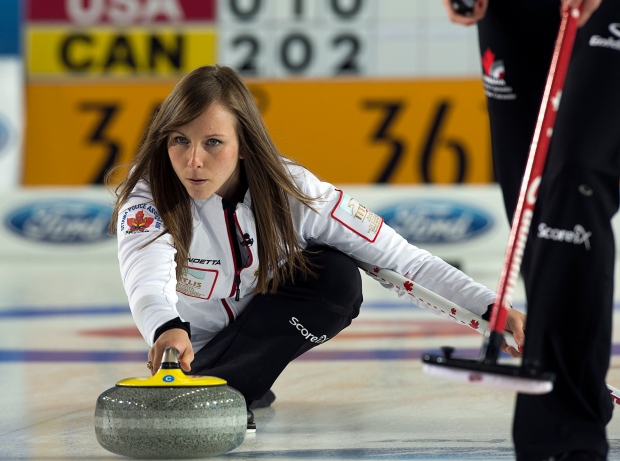
<instances>
[{"instance_id":1,"label":"orange strip with large black numbers 36 behind woman's head","mask_svg":"<svg viewBox=\"0 0 620 461\"><path fill-rule=\"evenodd\" d=\"M247 82L282 154L327 181L492 181L477 79ZM24 184L101 183L173 85L30 83Z\"/></svg>"}]
</instances>

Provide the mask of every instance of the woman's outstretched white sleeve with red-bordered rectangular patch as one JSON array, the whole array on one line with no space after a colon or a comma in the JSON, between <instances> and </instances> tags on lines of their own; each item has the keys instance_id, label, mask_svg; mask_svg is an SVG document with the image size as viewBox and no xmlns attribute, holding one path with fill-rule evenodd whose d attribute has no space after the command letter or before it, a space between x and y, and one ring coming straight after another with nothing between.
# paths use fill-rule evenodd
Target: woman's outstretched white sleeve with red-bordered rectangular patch
<instances>
[{"instance_id":1,"label":"woman's outstretched white sleeve with red-bordered rectangular patch","mask_svg":"<svg viewBox=\"0 0 620 461\"><path fill-rule=\"evenodd\" d=\"M315 209L295 206L296 226L306 244L338 248L353 259L391 269L477 315L486 313L495 293L428 251L411 245L383 219L344 191L307 170L294 170L299 186L320 197Z\"/></svg>"}]
</instances>

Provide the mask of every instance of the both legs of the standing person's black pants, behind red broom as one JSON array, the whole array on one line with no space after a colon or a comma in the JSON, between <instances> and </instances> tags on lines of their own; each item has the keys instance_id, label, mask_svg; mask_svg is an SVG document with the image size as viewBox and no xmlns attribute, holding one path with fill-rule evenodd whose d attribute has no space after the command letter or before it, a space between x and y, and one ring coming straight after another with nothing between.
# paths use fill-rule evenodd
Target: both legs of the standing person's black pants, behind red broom
<instances>
[{"instance_id":1,"label":"both legs of the standing person's black pants, behind red broom","mask_svg":"<svg viewBox=\"0 0 620 461\"><path fill-rule=\"evenodd\" d=\"M503 60L505 87L516 96L487 93L494 167L511 219L551 62L559 4L492 0L479 26L481 52L491 50L487 56ZM620 45L613 23L620 23L620 2L603 0L578 32L522 264L528 300L523 360L555 372L557 379L549 394L517 398L518 460L568 450L603 456L608 451L605 426L612 403L605 377L615 261L610 220L619 202L620 50L591 46L591 38L611 38Z\"/></svg>"}]
</instances>

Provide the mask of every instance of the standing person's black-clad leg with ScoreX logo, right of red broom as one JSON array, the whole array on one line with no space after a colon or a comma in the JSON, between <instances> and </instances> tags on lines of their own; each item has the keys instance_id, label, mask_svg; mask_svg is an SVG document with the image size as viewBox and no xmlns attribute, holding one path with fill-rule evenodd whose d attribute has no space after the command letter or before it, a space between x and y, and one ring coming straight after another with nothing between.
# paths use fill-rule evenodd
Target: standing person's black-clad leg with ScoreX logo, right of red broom
<instances>
[{"instance_id":1,"label":"standing person's black-clad leg with ScoreX logo, right of red broom","mask_svg":"<svg viewBox=\"0 0 620 461\"><path fill-rule=\"evenodd\" d=\"M592 46L592 37L611 36L619 22L620 4L604 1L578 32L536 204L523 360L557 378L551 393L517 398L519 460L566 451L605 459L608 451L620 49Z\"/></svg>"}]
</instances>

